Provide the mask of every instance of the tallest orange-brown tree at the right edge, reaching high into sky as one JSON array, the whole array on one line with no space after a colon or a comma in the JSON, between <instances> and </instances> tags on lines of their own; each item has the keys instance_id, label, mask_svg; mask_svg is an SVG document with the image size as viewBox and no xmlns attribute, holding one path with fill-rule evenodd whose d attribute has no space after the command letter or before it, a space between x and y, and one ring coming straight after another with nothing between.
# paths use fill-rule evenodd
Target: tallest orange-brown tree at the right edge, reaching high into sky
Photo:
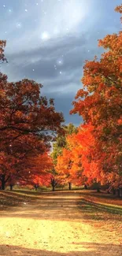
<instances>
[{"instance_id":1,"label":"tallest orange-brown tree at the right edge, reaching high into sky","mask_svg":"<svg viewBox=\"0 0 122 256\"><path fill-rule=\"evenodd\" d=\"M122 6L116 11L121 13ZM122 186L122 32L98 40L105 53L86 61L83 88L77 92L71 113L79 113L93 127L95 150L91 163L99 165L96 178L112 187Z\"/></svg>"}]
</instances>

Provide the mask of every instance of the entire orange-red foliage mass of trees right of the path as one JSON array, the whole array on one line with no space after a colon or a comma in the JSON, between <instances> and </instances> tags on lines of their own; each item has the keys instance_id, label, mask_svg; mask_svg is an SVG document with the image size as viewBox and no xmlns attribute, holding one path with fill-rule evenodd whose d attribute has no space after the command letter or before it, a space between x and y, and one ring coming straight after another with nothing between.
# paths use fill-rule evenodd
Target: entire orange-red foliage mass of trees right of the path
<instances>
[{"instance_id":1,"label":"entire orange-red foliage mass of trees right of the path","mask_svg":"<svg viewBox=\"0 0 122 256\"><path fill-rule=\"evenodd\" d=\"M121 13L122 6L116 11ZM57 158L57 170L70 176L79 173L81 184L94 181L122 187L122 32L98 40L105 49L100 60L86 61L83 87L72 102L71 114L79 113L83 124L68 135L68 148ZM70 169L68 164L70 162Z\"/></svg>"}]
</instances>

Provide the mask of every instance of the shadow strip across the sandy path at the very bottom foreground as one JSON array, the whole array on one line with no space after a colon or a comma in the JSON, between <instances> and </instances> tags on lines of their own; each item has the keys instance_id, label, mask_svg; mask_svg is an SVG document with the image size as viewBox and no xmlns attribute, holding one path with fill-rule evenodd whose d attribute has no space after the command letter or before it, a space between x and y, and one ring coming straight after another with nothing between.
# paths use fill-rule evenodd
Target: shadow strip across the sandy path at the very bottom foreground
<instances>
[{"instance_id":1,"label":"shadow strip across the sandy path at the very bottom foreground","mask_svg":"<svg viewBox=\"0 0 122 256\"><path fill-rule=\"evenodd\" d=\"M75 243L73 246L74 250L69 244L68 251L62 253L62 249L56 252L2 244L0 256L121 256L122 249L120 245L103 243Z\"/></svg>"}]
</instances>

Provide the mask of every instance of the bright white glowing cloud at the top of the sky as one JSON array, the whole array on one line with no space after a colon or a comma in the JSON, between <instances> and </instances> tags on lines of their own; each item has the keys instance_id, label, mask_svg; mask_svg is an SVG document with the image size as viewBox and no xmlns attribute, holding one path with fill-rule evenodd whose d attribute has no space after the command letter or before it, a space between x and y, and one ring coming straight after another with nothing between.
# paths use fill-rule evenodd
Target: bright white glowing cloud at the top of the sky
<instances>
[{"instance_id":1,"label":"bright white glowing cloud at the top of the sky","mask_svg":"<svg viewBox=\"0 0 122 256\"><path fill-rule=\"evenodd\" d=\"M11 16L4 20L4 29L9 37L7 52L35 49L40 43L46 44L48 38L57 40L68 34L76 34L80 30L79 24L83 26L86 23L93 8L91 0L39 0L38 6L35 1L25 5L24 0L19 0L19 8L14 1L13 5ZM13 38L13 35L16 36Z\"/></svg>"}]
</instances>

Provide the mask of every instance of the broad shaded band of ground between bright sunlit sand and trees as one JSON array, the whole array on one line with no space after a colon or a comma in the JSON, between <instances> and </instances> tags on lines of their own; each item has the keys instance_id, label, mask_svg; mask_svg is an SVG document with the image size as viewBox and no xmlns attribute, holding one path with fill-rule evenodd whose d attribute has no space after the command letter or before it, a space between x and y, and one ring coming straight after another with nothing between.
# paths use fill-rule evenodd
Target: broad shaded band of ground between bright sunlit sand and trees
<instances>
[{"instance_id":1,"label":"broad shaded band of ground between bright sunlit sand and trees","mask_svg":"<svg viewBox=\"0 0 122 256\"><path fill-rule=\"evenodd\" d=\"M67 192L47 192L39 194L37 197L26 197L9 194L6 195L5 204L2 207L4 215L2 217L22 217L35 219L48 219L55 221L105 221L107 216L111 221L120 221L122 209L118 206L105 206L102 203L91 202L88 199L80 198L84 195L78 191ZM86 193L87 195L87 193ZM11 205L12 204L12 205ZM22 211L22 213L20 212Z\"/></svg>"}]
</instances>

